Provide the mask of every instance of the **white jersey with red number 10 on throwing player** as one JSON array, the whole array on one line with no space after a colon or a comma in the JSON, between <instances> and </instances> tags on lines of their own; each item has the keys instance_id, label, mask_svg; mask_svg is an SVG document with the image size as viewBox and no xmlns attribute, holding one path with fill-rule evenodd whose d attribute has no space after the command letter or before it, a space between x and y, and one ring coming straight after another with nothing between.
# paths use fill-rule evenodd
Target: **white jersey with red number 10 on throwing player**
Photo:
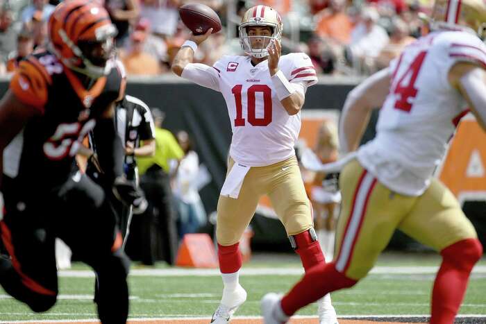
<instances>
[{"instance_id":1,"label":"white jersey with red number 10 on throwing player","mask_svg":"<svg viewBox=\"0 0 486 324\"><path fill-rule=\"evenodd\" d=\"M304 91L317 82L315 69L305 53L281 56L278 67L290 83L303 83ZM301 114L290 116L283 108L267 60L253 66L250 56L223 56L213 67L190 64L182 76L223 94L233 130L233 160L262 167L295 154Z\"/></svg>"}]
</instances>

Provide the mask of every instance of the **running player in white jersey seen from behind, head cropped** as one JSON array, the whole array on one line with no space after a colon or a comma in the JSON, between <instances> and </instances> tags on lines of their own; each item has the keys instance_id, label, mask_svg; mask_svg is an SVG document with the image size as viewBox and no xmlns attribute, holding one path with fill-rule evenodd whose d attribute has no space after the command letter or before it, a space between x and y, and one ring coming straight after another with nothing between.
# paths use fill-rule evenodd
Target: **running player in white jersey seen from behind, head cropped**
<instances>
[{"instance_id":1,"label":"running player in white jersey seen from behind, head cropped","mask_svg":"<svg viewBox=\"0 0 486 324\"><path fill-rule=\"evenodd\" d=\"M433 171L464 114L471 111L486 130L486 46L476 35L486 26L486 2L437 0L432 18L432 33L348 95L340 144L358 151L350 153L340 176L335 258L305 273L283 298L267 294L265 323L285 323L324 294L352 287L397 228L442 255L430 323L454 322L483 247ZM358 148L375 108L381 108L376 137Z\"/></svg>"}]
</instances>

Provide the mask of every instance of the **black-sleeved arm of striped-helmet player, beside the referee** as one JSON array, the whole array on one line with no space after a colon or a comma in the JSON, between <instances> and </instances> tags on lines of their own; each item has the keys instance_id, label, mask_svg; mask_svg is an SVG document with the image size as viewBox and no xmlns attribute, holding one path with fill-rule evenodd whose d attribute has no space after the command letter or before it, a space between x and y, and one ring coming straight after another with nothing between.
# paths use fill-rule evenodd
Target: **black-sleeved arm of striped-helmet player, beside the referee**
<instances>
[{"instance_id":1,"label":"black-sleeved arm of striped-helmet player, beside the referee","mask_svg":"<svg viewBox=\"0 0 486 324\"><path fill-rule=\"evenodd\" d=\"M96 153L103 170L103 182L112 185L123 174L124 147L113 119L99 119L93 130Z\"/></svg>"}]
</instances>

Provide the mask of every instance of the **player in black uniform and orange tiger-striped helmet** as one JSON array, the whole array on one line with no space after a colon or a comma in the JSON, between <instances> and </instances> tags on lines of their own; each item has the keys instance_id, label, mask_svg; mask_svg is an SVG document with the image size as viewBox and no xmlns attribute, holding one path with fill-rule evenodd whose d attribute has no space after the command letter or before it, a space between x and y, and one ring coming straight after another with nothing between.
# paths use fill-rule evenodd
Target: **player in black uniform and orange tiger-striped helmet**
<instances>
[{"instance_id":1,"label":"player in black uniform and orange tiger-striped helmet","mask_svg":"<svg viewBox=\"0 0 486 324\"><path fill-rule=\"evenodd\" d=\"M17 153L6 155L13 170L1 184L1 239L10 256L0 259L0 284L35 312L52 307L59 237L96 271L99 318L110 324L126 323L128 259L107 190L79 172L74 155L94 128L110 190L128 205L137 198L121 177L124 148L113 122L124 95L112 60L115 35L99 2L61 3L49 20L49 50L20 62L0 101L0 168L3 149L17 136Z\"/></svg>"}]
</instances>

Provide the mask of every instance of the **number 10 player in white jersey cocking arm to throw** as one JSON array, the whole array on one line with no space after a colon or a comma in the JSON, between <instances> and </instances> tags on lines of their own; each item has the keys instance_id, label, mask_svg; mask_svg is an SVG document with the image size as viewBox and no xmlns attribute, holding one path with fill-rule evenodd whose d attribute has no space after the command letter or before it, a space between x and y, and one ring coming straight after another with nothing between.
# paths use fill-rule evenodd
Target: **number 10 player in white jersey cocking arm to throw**
<instances>
[{"instance_id":1,"label":"number 10 player in white jersey cocking arm to throw","mask_svg":"<svg viewBox=\"0 0 486 324\"><path fill-rule=\"evenodd\" d=\"M226 324L246 300L238 279L242 266L238 244L260 196L269 196L305 271L325 263L294 151L305 92L317 77L305 53L280 56L282 20L268 6L250 8L242 18L240 43L246 56L223 56L212 67L192 63L197 45L210 33L192 35L178 51L172 70L221 92L233 130L217 207L224 289L211 321ZM323 324L337 323L328 295L319 302L319 318Z\"/></svg>"}]
</instances>

